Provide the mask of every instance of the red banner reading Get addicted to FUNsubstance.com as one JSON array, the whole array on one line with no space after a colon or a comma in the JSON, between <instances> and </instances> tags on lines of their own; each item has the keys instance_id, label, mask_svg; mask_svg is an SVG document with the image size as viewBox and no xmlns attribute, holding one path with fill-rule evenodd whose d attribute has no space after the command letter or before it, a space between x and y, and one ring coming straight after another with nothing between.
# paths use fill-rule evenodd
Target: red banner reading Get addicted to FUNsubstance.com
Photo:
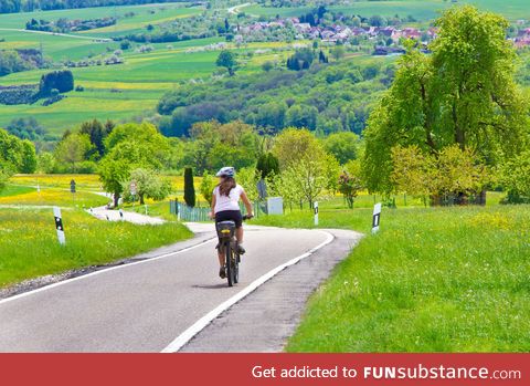
<instances>
[{"instance_id":1,"label":"red banner reading Get addicted to FUNsubstance.com","mask_svg":"<svg viewBox=\"0 0 530 386\"><path fill-rule=\"evenodd\" d=\"M530 354L0 354L2 385L530 385Z\"/></svg>"}]
</instances>

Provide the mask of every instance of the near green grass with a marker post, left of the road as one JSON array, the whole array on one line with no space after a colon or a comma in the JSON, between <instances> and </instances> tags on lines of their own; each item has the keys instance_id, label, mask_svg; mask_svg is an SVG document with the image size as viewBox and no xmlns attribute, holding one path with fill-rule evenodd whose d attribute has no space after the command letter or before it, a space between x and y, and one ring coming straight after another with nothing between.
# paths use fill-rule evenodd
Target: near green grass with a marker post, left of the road
<instances>
[{"instance_id":1,"label":"near green grass with a marker post, left of the road","mask_svg":"<svg viewBox=\"0 0 530 386\"><path fill-rule=\"evenodd\" d=\"M191 237L178 222L161 226L107 222L74 209L64 209L62 215L64 247L57 243L50 209L0 208L0 288L108 263Z\"/></svg>"}]
</instances>

